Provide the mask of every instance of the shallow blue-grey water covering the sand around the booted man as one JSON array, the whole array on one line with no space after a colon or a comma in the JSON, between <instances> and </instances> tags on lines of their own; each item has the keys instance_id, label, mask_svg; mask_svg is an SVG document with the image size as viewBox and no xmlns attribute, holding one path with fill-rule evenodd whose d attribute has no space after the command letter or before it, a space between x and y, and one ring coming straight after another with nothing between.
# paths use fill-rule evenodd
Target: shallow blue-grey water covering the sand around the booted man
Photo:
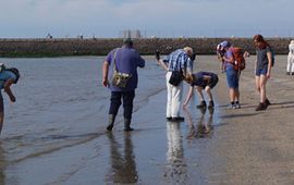
<instances>
[{"instance_id":1,"label":"shallow blue-grey water covering the sand around the booted man","mask_svg":"<svg viewBox=\"0 0 294 185\"><path fill-rule=\"evenodd\" d=\"M1 59L22 77L12 89L15 103L3 95L0 184L203 182L206 171L198 166L207 153L199 151L221 124L218 109L196 110L195 98L183 111L185 122L167 122L164 72L146 58L138 70L136 131L123 132L120 110L114 131L106 133L110 92L101 86L103 59Z\"/></svg>"}]
</instances>

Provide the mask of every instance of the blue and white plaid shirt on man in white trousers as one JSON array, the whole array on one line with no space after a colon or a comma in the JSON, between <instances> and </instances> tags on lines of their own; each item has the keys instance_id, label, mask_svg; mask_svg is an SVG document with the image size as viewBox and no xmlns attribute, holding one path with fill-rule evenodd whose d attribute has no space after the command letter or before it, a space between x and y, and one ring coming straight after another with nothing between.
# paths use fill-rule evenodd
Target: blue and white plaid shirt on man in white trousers
<instances>
[{"instance_id":1,"label":"blue and white plaid shirt on man in white trousers","mask_svg":"<svg viewBox=\"0 0 294 185\"><path fill-rule=\"evenodd\" d=\"M169 72L187 69L189 73L193 72L193 61L188 58L183 49L177 49L167 55L163 61L169 65Z\"/></svg>"}]
</instances>

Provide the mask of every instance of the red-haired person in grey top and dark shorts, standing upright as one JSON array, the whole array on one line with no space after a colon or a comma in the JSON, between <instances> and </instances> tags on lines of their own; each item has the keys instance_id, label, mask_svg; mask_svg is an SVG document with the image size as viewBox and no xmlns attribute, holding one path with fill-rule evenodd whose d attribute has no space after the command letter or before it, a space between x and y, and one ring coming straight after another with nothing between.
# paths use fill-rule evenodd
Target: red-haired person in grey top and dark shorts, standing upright
<instances>
[{"instance_id":1,"label":"red-haired person in grey top and dark shorts, standing upright","mask_svg":"<svg viewBox=\"0 0 294 185\"><path fill-rule=\"evenodd\" d=\"M260 102L256 108L256 111L262 111L270 106L270 101L267 98L267 82L271 76L271 67L274 62L273 52L270 45L265 40L261 35L254 36L254 45L256 47L255 62L255 82L256 89L260 95Z\"/></svg>"}]
</instances>

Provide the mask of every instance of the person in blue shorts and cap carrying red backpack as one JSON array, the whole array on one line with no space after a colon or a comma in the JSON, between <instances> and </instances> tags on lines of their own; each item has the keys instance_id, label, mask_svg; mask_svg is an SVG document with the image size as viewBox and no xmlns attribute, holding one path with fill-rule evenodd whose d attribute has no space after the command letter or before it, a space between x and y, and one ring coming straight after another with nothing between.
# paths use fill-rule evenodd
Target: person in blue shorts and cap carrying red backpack
<instances>
[{"instance_id":1,"label":"person in blue shorts and cap carrying red backpack","mask_svg":"<svg viewBox=\"0 0 294 185\"><path fill-rule=\"evenodd\" d=\"M224 51L224 54L220 57L220 60L224 61L224 70L226 74L226 84L229 87L231 109L240 109L240 90L238 90L238 79L240 79L240 70L235 70L235 59L234 59L234 48L226 40L222 41L220 49Z\"/></svg>"}]
</instances>

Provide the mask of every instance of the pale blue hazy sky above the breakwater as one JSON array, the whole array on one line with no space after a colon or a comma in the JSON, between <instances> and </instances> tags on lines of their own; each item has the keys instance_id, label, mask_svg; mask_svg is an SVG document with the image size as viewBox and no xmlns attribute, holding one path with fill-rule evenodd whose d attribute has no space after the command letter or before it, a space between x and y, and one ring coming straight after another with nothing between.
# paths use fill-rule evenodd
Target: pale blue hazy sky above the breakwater
<instances>
[{"instance_id":1,"label":"pale blue hazy sky above the breakwater","mask_svg":"<svg viewBox=\"0 0 294 185\"><path fill-rule=\"evenodd\" d=\"M294 37L294 0L0 0L0 38Z\"/></svg>"}]
</instances>

